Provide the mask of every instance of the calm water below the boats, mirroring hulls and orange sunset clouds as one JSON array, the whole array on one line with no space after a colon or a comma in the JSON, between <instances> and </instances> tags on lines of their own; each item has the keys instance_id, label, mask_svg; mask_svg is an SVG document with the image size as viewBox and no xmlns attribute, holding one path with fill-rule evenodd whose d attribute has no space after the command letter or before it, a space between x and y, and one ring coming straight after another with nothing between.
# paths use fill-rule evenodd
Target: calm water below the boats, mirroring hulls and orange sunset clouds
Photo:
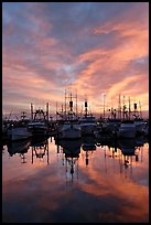
<instances>
[{"instance_id":1,"label":"calm water below the boats, mirroring hulls and orange sunset clouds","mask_svg":"<svg viewBox=\"0 0 151 225\"><path fill-rule=\"evenodd\" d=\"M2 222L149 222L147 141L40 142L3 146Z\"/></svg>"}]
</instances>

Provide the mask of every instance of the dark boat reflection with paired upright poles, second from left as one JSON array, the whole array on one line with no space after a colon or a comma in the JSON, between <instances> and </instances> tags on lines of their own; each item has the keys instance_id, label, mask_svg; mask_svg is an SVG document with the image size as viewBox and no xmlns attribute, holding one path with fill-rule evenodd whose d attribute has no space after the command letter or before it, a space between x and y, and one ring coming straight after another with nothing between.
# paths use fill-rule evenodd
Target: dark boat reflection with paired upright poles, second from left
<instances>
[{"instance_id":1,"label":"dark boat reflection with paired upright poles, second from left","mask_svg":"<svg viewBox=\"0 0 151 225\"><path fill-rule=\"evenodd\" d=\"M48 164L48 139L41 137L39 139L34 138L31 140L31 149L32 149L32 163L34 158L40 159L42 161L46 156L46 162Z\"/></svg>"}]
</instances>

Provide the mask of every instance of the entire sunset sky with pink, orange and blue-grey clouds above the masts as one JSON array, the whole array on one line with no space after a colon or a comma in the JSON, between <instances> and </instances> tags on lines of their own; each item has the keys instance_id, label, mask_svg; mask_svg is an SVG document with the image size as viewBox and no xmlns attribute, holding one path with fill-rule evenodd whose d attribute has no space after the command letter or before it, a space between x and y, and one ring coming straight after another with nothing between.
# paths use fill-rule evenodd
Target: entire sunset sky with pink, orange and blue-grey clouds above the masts
<instances>
[{"instance_id":1,"label":"entire sunset sky with pink, orange and blue-grey clouds above the masts","mask_svg":"<svg viewBox=\"0 0 151 225\"><path fill-rule=\"evenodd\" d=\"M148 2L2 3L2 110L51 111L77 90L93 111L119 94L149 109Z\"/></svg>"}]
</instances>

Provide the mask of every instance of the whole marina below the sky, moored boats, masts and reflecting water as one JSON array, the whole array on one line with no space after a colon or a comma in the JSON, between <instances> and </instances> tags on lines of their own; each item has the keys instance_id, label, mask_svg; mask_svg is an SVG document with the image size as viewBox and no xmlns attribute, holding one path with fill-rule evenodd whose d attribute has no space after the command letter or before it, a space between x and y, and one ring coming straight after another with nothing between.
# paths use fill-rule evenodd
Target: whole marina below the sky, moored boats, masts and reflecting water
<instances>
[{"instance_id":1,"label":"whole marina below the sky, moored boats, masts and reflecting water","mask_svg":"<svg viewBox=\"0 0 151 225\"><path fill-rule=\"evenodd\" d=\"M75 101L65 92L54 118L46 103L31 104L28 120L3 120L3 222L147 223L149 120L136 103L101 118Z\"/></svg>"}]
</instances>

